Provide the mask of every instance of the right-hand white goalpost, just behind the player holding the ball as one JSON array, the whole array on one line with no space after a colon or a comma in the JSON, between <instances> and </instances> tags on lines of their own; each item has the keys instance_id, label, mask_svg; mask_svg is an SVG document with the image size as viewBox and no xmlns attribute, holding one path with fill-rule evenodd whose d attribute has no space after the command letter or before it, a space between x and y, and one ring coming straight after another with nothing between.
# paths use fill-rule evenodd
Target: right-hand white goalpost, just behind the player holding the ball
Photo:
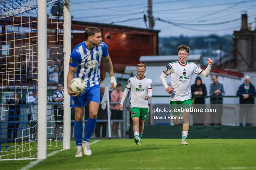
<instances>
[{"instance_id":1,"label":"right-hand white goalpost, just behind the player holding the ball","mask_svg":"<svg viewBox=\"0 0 256 170\"><path fill-rule=\"evenodd\" d=\"M64 39L64 115L63 115L63 149L70 149L70 96L66 86L69 71L69 60L71 54L71 5L69 0L64 0L63 15L63 39Z\"/></svg>"}]
</instances>

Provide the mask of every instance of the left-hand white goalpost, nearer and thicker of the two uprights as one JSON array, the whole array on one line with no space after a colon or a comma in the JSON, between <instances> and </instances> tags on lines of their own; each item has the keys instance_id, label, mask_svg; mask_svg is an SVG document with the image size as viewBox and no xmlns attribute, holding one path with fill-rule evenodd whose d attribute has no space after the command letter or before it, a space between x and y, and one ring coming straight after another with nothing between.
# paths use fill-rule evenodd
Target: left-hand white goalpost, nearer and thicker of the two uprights
<instances>
[{"instance_id":1,"label":"left-hand white goalpost, nearer and thicker of the two uprights","mask_svg":"<svg viewBox=\"0 0 256 170\"><path fill-rule=\"evenodd\" d=\"M38 159L46 159L47 146L47 9L38 1ZM40 63L40 64L39 64Z\"/></svg>"}]
</instances>

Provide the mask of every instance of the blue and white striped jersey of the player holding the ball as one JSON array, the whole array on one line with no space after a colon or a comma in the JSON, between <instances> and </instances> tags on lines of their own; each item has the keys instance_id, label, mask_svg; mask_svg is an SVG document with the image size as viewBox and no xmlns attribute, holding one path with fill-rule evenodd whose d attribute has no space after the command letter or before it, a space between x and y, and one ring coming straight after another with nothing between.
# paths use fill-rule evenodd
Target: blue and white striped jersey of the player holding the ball
<instances>
[{"instance_id":1,"label":"blue and white striped jersey of the player holding the ball","mask_svg":"<svg viewBox=\"0 0 256 170\"><path fill-rule=\"evenodd\" d=\"M88 49L85 42L83 41L73 49L69 65L77 67L74 78L80 77L87 82L87 87L92 87L100 84L101 56L107 57L109 52L104 42L92 49Z\"/></svg>"}]
</instances>

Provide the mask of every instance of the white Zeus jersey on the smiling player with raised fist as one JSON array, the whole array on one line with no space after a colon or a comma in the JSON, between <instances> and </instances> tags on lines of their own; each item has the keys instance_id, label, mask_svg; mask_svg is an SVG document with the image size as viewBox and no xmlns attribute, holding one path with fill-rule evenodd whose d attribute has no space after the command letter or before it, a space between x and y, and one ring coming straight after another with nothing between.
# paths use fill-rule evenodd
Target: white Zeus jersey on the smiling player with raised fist
<instances>
[{"instance_id":1,"label":"white Zeus jersey on the smiling player with raised fist","mask_svg":"<svg viewBox=\"0 0 256 170\"><path fill-rule=\"evenodd\" d=\"M203 70L193 62L187 62L185 65L179 61L169 63L164 69L166 75L171 74L171 87L174 91L171 93L171 101L184 101L191 99L190 83L192 74L200 74Z\"/></svg>"}]
</instances>

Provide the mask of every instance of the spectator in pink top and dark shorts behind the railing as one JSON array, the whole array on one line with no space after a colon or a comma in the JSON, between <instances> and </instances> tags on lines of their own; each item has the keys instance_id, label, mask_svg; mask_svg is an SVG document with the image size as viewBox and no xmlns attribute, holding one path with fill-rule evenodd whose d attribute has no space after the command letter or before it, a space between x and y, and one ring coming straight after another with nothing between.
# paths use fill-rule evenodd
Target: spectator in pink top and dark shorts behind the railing
<instances>
[{"instance_id":1,"label":"spectator in pink top and dark shorts behind the railing","mask_svg":"<svg viewBox=\"0 0 256 170\"><path fill-rule=\"evenodd\" d=\"M116 85L116 90L113 90L110 94L111 96L111 102L119 102L122 99L122 84L117 83ZM110 104L110 109L111 109L111 120L120 120L123 119L123 111L119 110L120 104ZM119 121L113 121L112 124L112 131L113 131L113 136L117 137L118 136L118 130L119 130Z\"/></svg>"}]
</instances>

